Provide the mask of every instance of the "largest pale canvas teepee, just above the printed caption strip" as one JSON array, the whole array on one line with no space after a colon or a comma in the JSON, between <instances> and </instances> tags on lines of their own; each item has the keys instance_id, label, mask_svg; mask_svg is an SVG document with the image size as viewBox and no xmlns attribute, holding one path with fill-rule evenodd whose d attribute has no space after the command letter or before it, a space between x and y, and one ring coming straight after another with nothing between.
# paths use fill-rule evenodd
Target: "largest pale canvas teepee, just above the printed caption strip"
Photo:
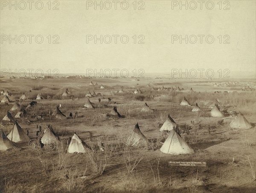
<instances>
[{"instance_id":1,"label":"largest pale canvas teepee, just above the printed caption strip","mask_svg":"<svg viewBox=\"0 0 256 193\"><path fill-rule=\"evenodd\" d=\"M194 150L182 139L179 133L175 129L170 131L169 136L163 143L160 151L169 154L186 154L194 153Z\"/></svg>"}]
</instances>

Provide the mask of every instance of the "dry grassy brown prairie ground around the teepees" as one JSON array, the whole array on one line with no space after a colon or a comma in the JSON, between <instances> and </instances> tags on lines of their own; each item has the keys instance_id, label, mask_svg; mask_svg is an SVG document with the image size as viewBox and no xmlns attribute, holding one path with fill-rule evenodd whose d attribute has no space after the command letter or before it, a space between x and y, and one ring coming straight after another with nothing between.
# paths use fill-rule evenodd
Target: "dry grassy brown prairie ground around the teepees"
<instances>
[{"instance_id":1,"label":"dry grassy brown prairie ground around the teepees","mask_svg":"<svg viewBox=\"0 0 256 193\"><path fill-rule=\"evenodd\" d=\"M90 86L90 82L98 86ZM154 81L154 82L153 82ZM230 80L228 81L236 81ZM142 192L255 192L256 191L256 100L255 91L241 91L243 84L253 80L240 79L239 84L230 87L213 87L212 83L227 82L225 79L151 79L134 81L126 79L0 79L0 90L11 93L12 101L23 92L30 97L20 105L27 106L37 101L26 119L17 119L29 137L36 139L36 125L46 128L52 125L60 137L60 144L54 150L46 148L31 149L26 144L0 152L0 192L4 193L57 193L57 192L93 192L93 193L142 193ZM184 88L182 92L151 91L154 88ZM255 84L255 80L253 82ZM104 85L105 89L100 89ZM125 93L115 93L123 88ZM68 88L70 94L78 98L61 99ZM143 94L132 94L140 88ZM192 88L195 92L188 93ZM29 93L29 90L32 92ZM87 91L101 93L92 97L95 109L82 109ZM112 94L111 93L114 93ZM221 94L214 91L222 91ZM223 91L229 91L224 94ZM44 98L35 100L38 93ZM2 99L3 96L1 96ZM112 100L108 102L108 97ZM191 107L180 108L178 102L186 97L191 104L201 102L204 112L191 112ZM98 99L101 99L99 103ZM209 106L218 99L221 104L241 111L253 125L250 129L232 129L230 122L235 118L228 113L225 117L210 117ZM117 102L117 103L116 103ZM157 111L140 112L144 103ZM56 105L68 116L78 112L78 119L55 120L47 116ZM14 102L1 104L0 119L6 115ZM125 118L115 119L106 116L116 106ZM44 120L36 120L33 115L46 114ZM160 152L161 143L155 146L163 136L159 127L172 116L183 131L183 139L195 150L193 154L170 155ZM12 113L15 115L15 112ZM224 119L223 124L218 121ZM191 123L194 121L194 124ZM138 122L142 133L152 141L153 149L143 147L125 148L125 141ZM13 125L1 123L5 133ZM210 127L210 134L208 128ZM76 154L66 153L67 139L76 132L87 144L105 145L105 151ZM164 142L164 139L163 139ZM169 161L207 162L207 167L168 166Z\"/></svg>"}]
</instances>

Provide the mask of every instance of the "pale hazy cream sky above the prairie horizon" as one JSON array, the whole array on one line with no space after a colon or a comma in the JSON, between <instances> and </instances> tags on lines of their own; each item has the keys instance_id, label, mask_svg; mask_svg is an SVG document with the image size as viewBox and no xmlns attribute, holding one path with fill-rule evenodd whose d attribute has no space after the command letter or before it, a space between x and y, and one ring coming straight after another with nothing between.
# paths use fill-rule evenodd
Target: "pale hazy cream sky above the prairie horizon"
<instances>
[{"instance_id":1,"label":"pale hazy cream sky above the prairie horizon","mask_svg":"<svg viewBox=\"0 0 256 193\"><path fill-rule=\"evenodd\" d=\"M172 9L173 2L167 0L144 0L145 5L137 2L136 10L132 4L134 0L128 1L126 10L121 8L120 3L117 3L115 10L113 1L110 1L111 9L96 7L95 10L94 6L87 9L88 1L59 0L59 10L52 10L57 5L53 1L49 10L48 1L42 1L44 8L41 10L36 9L35 4L30 10L29 3L26 3L24 10L18 6L17 10L14 7L9 9L9 5L1 4L1 69L41 68L47 71L57 68L60 73L78 74L85 73L86 69L113 68L129 71L142 68L148 73L166 73L173 68L256 70L256 6L253 0L229 1L230 10L224 10L224 4L220 10L219 1L213 1L212 10L207 9L205 4L200 9L200 3L197 3L195 10L189 7L187 10L185 7L180 9L179 6ZM144 10L138 10L139 6ZM17 40L16 44L12 40L9 43L9 39L4 40L9 35L20 36L20 42L26 36L26 42L22 44ZM34 35L31 44L27 35ZM35 42L37 35L44 38L41 44ZM59 44L53 44L57 37L53 38L54 35L59 37ZM101 44L100 40L96 44L94 40L87 43L87 35L109 35L112 41L109 44L104 41ZM113 35L119 35L116 44ZM128 36L128 43L120 41L122 35ZM183 38L188 35L191 42L194 37L198 39L194 44L189 41L186 44L186 40L181 44L179 40L172 43L173 35ZM204 36L202 43L198 35ZM208 35L214 37L211 44L206 42ZM142 40L144 44L138 44L142 37L145 37ZM108 37L105 40L107 42ZM211 38L208 40L211 41ZM224 44L224 41L229 44Z\"/></svg>"}]
</instances>

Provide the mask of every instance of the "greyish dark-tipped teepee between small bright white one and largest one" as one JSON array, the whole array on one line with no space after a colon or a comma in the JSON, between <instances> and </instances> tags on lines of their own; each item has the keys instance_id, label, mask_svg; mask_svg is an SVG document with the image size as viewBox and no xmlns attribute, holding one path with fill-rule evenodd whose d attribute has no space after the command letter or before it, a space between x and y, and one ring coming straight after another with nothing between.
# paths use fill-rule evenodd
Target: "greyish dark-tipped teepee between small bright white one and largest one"
<instances>
[{"instance_id":1,"label":"greyish dark-tipped teepee between small bright white one and largest one","mask_svg":"<svg viewBox=\"0 0 256 193\"><path fill-rule=\"evenodd\" d=\"M138 123L127 140L127 145L130 146L146 146L149 140L141 133Z\"/></svg>"}]
</instances>

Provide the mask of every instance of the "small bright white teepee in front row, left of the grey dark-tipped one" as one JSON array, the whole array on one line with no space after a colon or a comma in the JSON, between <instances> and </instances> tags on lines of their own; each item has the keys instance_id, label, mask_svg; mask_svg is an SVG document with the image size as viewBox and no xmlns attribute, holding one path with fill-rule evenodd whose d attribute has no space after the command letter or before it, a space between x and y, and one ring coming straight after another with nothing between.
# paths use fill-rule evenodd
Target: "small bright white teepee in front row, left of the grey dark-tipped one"
<instances>
[{"instance_id":1,"label":"small bright white teepee in front row, left of the grey dark-tipped one","mask_svg":"<svg viewBox=\"0 0 256 193\"><path fill-rule=\"evenodd\" d=\"M74 134L70 145L68 146L68 153L86 153L87 145L81 140L81 138Z\"/></svg>"}]
</instances>

